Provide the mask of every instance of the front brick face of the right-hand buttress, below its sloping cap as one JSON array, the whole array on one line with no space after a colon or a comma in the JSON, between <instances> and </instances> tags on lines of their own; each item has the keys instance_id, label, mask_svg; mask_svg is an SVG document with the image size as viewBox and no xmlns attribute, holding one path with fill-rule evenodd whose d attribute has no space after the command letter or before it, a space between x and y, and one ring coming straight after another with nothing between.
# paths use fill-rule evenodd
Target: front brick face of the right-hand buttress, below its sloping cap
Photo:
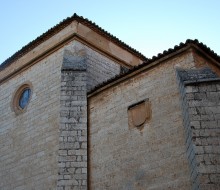
<instances>
[{"instance_id":1,"label":"front brick face of the right-hand buttress, below its sloping cap","mask_svg":"<svg viewBox=\"0 0 220 190\"><path fill-rule=\"evenodd\" d=\"M219 80L220 81L220 80ZM194 153L193 177L198 189L220 188L220 82L186 86Z\"/></svg>"}]
</instances>

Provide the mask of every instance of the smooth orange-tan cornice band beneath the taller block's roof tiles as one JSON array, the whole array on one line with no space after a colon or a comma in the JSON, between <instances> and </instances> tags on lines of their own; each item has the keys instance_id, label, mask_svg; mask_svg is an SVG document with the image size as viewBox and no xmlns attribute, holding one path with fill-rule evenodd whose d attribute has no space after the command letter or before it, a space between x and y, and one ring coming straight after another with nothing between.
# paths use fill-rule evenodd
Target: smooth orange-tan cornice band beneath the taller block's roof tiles
<instances>
[{"instance_id":1,"label":"smooth orange-tan cornice band beneath the taller block's roof tiles","mask_svg":"<svg viewBox=\"0 0 220 190\"><path fill-rule=\"evenodd\" d=\"M0 84L36 64L73 40L87 45L127 68L139 65L144 61L121 46L118 46L118 44L109 41L109 39L103 37L88 26L74 20L61 31L15 59L12 63L9 62L6 65L2 65L0 68Z\"/></svg>"}]
</instances>

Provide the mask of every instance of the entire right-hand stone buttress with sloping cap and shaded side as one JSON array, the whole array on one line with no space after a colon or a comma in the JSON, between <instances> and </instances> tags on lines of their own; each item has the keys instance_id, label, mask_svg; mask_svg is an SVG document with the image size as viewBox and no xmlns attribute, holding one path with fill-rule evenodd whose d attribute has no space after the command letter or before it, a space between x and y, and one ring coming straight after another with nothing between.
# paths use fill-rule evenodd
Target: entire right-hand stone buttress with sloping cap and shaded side
<instances>
[{"instance_id":1,"label":"entire right-hand stone buttress with sloping cap and shaded side","mask_svg":"<svg viewBox=\"0 0 220 190\"><path fill-rule=\"evenodd\" d=\"M178 75L193 189L219 189L220 79L209 68Z\"/></svg>"}]
</instances>

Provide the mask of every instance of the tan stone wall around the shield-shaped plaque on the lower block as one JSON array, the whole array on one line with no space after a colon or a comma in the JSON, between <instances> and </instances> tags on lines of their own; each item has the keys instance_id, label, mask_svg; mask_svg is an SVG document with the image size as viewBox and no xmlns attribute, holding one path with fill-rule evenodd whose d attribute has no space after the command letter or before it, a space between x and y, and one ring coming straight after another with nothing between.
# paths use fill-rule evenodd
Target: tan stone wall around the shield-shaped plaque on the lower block
<instances>
[{"instance_id":1,"label":"tan stone wall around the shield-shaped plaque on the lower block","mask_svg":"<svg viewBox=\"0 0 220 190\"><path fill-rule=\"evenodd\" d=\"M190 52L89 98L91 189L191 189L176 67ZM149 99L151 118L129 128L128 107Z\"/></svg>"}]
</instances>

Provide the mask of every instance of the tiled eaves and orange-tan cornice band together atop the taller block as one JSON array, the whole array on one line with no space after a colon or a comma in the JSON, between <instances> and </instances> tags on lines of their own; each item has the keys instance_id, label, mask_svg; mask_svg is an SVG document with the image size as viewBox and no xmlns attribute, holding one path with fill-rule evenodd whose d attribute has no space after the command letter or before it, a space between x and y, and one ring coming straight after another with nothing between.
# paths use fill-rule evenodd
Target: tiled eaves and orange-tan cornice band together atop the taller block
<instances>
[{"instance_id":1,"label":"tiled eaves and orange-tan cornice band together atop the taller block","mask_svg":"<svg viewBox=\"0 0 220 190\"><path fill-rule=\"evenodd\" d=\"M127 68L132 68L147 60L142 54L94 23L74 15L30 42L0 65L0 84L74 40Z\"/></svg>"}]
</instances>

